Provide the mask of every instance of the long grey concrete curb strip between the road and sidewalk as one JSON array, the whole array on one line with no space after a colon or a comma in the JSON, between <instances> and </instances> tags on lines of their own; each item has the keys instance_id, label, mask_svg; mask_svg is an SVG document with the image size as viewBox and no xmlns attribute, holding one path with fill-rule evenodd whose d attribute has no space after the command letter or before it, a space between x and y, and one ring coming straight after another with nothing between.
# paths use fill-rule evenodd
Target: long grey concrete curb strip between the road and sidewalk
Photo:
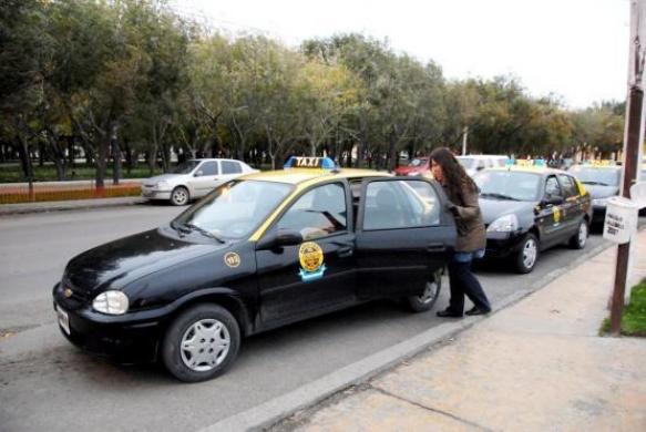
<instances>
[{"instance_id":1,"label":"long grey concrete curb strip between the road and sidewalk","mask_svg":"<svg viewBox=\"0 0 646 432\"><path fill-rule=\"evenodd\" d=\"M530 288L519 290L498 302L495 305L495 311L503 310L517 304L531 294L547 286L560 276L578 267L587 259L601 254L612 246L614 246L614 244L607 243L586 250L577 259L563 268L551 271L540 281L532 284ZM453 338L482 319L485 319L485 317L470 317L461 321L440 325L391 348L379 351L363 360L357 361L319 378L318 380L305 384L287 394L221 420L217 423L199 430L199 432L265 430L298 411L311 408L351 385L357 385L368 381L403 360Z\"/></svg>"}]
</instances>

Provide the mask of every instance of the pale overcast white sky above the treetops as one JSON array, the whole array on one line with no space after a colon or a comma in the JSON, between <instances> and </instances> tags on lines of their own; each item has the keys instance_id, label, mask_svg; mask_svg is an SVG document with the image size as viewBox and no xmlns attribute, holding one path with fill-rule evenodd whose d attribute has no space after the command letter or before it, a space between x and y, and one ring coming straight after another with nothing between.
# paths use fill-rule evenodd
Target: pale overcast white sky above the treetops
<instances>
[{"instance_id":1,"label":"pale overcast white sky above the treetops","mask_svg":"<svg viewBox=\"0 0 646 432\"><path fill-rule=\"evenodd\" d=\"M235 37L289 47L358 32L433 60L447 79L512 75L566 107L624 101L629 0L172 0L183 14Z\"/></svg>"}]
</instances>

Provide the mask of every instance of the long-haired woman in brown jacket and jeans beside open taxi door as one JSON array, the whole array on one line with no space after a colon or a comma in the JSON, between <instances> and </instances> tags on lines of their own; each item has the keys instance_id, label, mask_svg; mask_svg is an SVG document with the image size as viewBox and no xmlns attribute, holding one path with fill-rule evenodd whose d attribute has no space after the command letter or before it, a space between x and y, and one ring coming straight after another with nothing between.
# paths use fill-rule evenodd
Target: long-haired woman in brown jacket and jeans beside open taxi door
<instances>
[{"instance_id":1,"label":"long-haired woman in brown jacket and jeans beside open taxi door","mask_svg":"<svg viewBox=\"0 0 646 432\"><path fill-rule=\"evenodd\" d=\"M455 253L449 261L451 299L449 307L439 311L438 317L462 317L464 296L474 305L466 315L489 313L491 311L489 299L471 272L471 261L473 258L484 256L486 244L484 223L478 203L478 186L447 147L435 148L431 153L431 172L449 197L449 210L455 217L458 228Z\"/></svg>"}]
</instances>

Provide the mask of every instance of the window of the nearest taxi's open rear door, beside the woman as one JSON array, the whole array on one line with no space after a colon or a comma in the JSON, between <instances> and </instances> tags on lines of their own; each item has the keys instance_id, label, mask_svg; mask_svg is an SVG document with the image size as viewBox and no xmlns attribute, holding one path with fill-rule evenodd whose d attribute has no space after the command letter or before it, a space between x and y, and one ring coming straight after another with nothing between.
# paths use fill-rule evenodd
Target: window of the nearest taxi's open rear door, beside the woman
<instances>
[{"instance_id":1,"label":"window of the nearest taxi's open rear door, beside the woman","mask_svg":"<svg viewBox=\"0 0 646 432\"><path fill-rule=\"evenodd\" d=\"M417 228L440 224L440 200L422 181L375 182L366 189L363 229Z\"/></svg>"}]
</instances>

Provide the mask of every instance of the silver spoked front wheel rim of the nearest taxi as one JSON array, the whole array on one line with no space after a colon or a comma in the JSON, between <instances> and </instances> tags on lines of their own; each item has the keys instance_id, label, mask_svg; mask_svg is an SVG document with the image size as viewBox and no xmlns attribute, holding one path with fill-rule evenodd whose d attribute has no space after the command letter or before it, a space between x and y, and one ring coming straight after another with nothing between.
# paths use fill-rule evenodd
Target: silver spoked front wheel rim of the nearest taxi
<instances>
[{"instance_id":1,"label":"silver spoked front wheel rim of the nearest taxi","mask_svg":"<svg viewBox=\"0 0 646 432\"><path fill-rule=\"evenodd\" d=\"M230 348L230 335L216 319L202 319L184 332L180 352L184 364L196 372L208 372L222 364Z\"/></svg>"}]
</instances>

